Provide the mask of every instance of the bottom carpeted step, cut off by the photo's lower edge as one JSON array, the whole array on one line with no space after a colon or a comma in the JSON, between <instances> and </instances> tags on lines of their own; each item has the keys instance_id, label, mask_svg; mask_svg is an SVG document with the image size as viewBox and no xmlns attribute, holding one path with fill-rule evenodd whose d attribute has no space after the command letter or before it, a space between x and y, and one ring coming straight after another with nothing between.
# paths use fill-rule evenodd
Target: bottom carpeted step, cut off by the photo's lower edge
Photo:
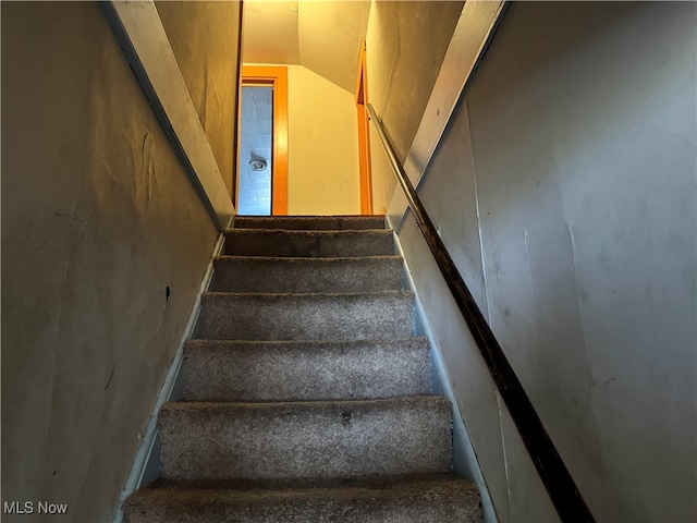
<instances>
[{"instance_id":1,"label":"bottom carpeted step, cut off by the photo's lower edge","mask_svg":"<svg viewBox=\"0 0 697 523\"><path fill-rule=\"evenodd\" d=\"M476 487L452 474L356 478L333 486L231 489L159 484L124 507L126 523L479 523Z\"/></svg>"}]
</instances>

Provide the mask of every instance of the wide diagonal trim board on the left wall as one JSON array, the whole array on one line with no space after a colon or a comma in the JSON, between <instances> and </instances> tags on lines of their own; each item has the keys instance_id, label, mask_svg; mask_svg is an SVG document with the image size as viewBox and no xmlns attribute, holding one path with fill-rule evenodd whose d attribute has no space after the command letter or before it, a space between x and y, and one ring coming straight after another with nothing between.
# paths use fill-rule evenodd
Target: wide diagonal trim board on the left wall
<instances>
[{"instance_id":1,"label":"wide diagonal trim board on the left wall","mask_svg":"<svg viewBox=\"0 0 697 523\"><path fill-rule=\"evenodd\" d=\"M235 209L154 0L101 8L201 203L224 231Z\"/></svg>"}]
</instances>

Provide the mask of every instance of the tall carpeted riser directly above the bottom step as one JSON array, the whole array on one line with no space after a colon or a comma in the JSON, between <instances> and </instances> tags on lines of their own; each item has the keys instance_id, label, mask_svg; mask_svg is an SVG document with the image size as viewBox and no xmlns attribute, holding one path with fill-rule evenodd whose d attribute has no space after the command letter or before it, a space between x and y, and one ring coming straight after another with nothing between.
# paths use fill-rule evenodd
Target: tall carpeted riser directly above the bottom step
<instances>
[{"instance_id":1,"label":"tall carpeted riser directly above the bottom step","mask_svg":"<svg viewBox=\"0 0 697 523\"><path fill-rule=\"evenodd\" d=\"M289 481L450 471L451 412L429 397L166 405L163 479Z\"/></svg>"}]
</instances>

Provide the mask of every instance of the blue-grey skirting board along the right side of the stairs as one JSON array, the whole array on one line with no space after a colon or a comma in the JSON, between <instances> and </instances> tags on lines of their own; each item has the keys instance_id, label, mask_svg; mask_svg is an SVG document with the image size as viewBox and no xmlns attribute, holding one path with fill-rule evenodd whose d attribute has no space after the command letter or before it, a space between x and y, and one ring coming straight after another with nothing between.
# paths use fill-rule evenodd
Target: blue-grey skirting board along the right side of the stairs
<instances>
[{"instance_id":1,"label":"blue-grey skirting board along the right side of the stairs","mask_svg":"<svg viewBox=\"0 0 697 523\"><path fill-rule=\"evenodd\" d=\"M477 459L477 454L472 445L472 440L469 439L469 433L467 431L467 427L465 426L465 422L463 421L462 411L453 391L451 379L448 375L440 348L436 342L433 330L428 323L426 309L424 308L424 304L421 303L418 291L416 290L414 278L412 278L412 271L409 270L408 262L406 260L406 256L404 255L402 242L399 234L394 232L394 228L392 227L393 223L390 222L389 218L387 218L387 221L388 226L393 230L396 254L402 257L405 287L413 291L416 297L414 303L418 326L420 327L420 330L424 331L424 336L428 338L428 343L430 345L431 382L433 384L433 393L444 396L445 398L448 398L452 405L453 470L457 474L470 478L477 486L477 489L479 490L479 495L481 497L481 508L484 511L485 523L497 523L499 519L493 507L493 501L491 500L491 495L489 494L489 487L487 486L484 474L481 473L479 460Z\"/></svg>"}]
</instances>

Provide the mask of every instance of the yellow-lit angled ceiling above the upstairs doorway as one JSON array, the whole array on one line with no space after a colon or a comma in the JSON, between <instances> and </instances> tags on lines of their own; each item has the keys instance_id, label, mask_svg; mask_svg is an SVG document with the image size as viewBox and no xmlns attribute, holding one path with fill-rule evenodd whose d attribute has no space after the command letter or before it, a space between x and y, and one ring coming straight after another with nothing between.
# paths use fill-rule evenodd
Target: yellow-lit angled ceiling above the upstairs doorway
<instances>
[{"instance_id":1,"label":"yellow-lit angled ceiling above the upstairs doorway","mask_svg":"<svg viewBox=\"0 0 697 523\"><path fill-rule=\"evenodd\" d=\"M245 63L298 64L354 93L369 0L244 2Z\"/></svg>"}]
</instances>

